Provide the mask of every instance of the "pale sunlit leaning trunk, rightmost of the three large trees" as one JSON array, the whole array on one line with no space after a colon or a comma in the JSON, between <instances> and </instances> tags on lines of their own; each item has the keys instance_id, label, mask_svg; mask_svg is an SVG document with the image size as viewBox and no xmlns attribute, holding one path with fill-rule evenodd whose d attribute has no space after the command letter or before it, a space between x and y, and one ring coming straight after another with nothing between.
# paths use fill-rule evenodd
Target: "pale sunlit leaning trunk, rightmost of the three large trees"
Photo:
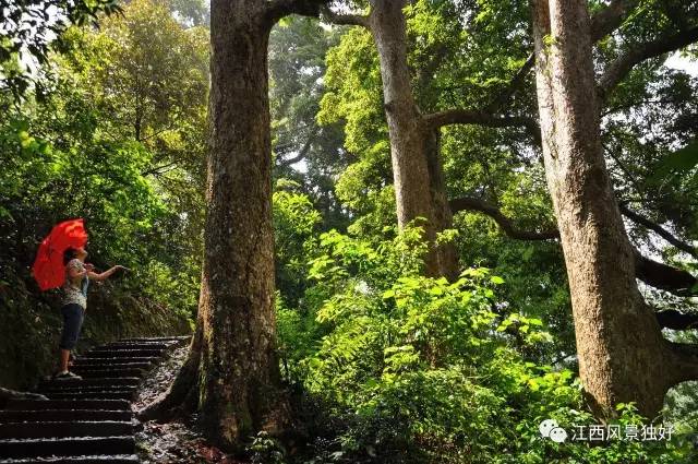
<instances>
[{"instance_id":1,"label":"pale sunlit leaning trunk, rightmost of the three large trees","mask_svg":"<svg viewBox=\"0 0 698 464\"><path fill-rule=\"evenodd\" d=\"M635 402L653 417L693 358L661 334L635 281L600 138L586 0L533 0L537 87L549 189L569 278L579 373L599 417Z\"/></svg>"}]
</instances>

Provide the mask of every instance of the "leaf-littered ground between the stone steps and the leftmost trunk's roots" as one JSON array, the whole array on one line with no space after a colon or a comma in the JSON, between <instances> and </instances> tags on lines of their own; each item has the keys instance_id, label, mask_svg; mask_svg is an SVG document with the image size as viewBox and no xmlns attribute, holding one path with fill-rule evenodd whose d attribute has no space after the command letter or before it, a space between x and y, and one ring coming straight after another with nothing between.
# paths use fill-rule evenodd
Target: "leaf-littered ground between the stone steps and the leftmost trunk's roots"
<instances>
[{"instance_id":1,"label":"leaf-littered ground between the stone steps and the leftmost trunk's roots","mask_svg":"<svg viewBox=\"0 0 698 464\"><path fill-rule=\"evenodd\" d=\"M143 381L134 409L141 409L164 394L186 358L189 346L177 348ZM136 449L144 464L221 463L244 464L212 445L196 430L195 417L158 424L143 424L136 433Z\"/></svg>"}]
</instances>

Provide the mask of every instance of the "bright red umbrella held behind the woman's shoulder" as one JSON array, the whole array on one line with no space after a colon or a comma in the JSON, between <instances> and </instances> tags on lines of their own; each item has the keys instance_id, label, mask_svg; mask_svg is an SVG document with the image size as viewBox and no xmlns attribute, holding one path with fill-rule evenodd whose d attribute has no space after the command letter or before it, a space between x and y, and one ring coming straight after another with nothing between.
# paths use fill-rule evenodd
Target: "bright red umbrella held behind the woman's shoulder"
<instances>
[{"instance_id":1,"label":"bright red umbrella held behind the woman's shoulder","mask_svg":"<svg viewBox=\"0 0 698 464\"><path fill-rule=\"evenodd\" d=\"M56 288L65 282L63 252L68 248L82 248L87 243L83 219L64 221L51 229L41 241L32 266L34 278L41 290Z\"/></svg>"}]
</instances>

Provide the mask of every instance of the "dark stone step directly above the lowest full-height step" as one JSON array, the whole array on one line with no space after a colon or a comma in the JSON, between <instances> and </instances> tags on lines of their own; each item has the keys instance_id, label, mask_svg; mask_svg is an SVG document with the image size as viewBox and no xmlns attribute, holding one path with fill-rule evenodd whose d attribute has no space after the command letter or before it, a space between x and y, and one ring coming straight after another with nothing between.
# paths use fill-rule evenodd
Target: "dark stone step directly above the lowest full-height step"
<instances>
[{"instance_id":1,"label":"dark stone step directly above the lowest full-height step","mask_svg":"<svg viewBox=\"0 0 698 464\"><path fill-rule=\"evenodd\" d=\"M0 439L117 437L133 435L132 421L59 421L0 424Z\"/></svg>"}]
</instances>

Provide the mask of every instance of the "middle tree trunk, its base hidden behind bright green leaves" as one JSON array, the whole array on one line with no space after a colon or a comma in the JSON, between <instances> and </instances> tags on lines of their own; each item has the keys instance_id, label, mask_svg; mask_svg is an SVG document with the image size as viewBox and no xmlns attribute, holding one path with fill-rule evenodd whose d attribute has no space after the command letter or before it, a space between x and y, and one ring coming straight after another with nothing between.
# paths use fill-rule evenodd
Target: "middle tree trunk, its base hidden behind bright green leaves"
<instances>
[{"instance_id":1,"label":"middle tree trunk, its base hidden behind bright green leaves","mask_svg":"<svg viewBox=\"0 0 698 464\"><path fill-rule=\"evenodd\" d=\"M398 225L402 228L423 217L426 222L420 225L430 243L426 273L454 277L458 272L454 246L435 243L436 234L452 226L452 217L445 201L437 135L425 124L412 95L405 3L406 0L373 0L369 20L381 61ZM436 151L431 154L431 166L430 150Z\"/></svg>"}]
</instances>

